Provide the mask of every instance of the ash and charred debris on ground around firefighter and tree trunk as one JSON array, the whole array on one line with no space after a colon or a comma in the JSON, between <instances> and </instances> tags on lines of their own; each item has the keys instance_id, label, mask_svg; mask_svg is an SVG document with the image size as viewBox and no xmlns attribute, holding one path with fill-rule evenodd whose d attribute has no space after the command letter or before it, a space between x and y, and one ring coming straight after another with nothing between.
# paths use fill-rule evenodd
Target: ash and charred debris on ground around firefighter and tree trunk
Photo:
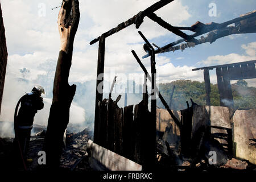
<instances>
[{"instance_id":1,"label":"ash and charred debris on ground around firefighter and tree trunk","mask_svg":"<svg viewBox=\"0 0 256 182\"><path fill-rule=\"evenodd\" d=\"M30 148L27 159L30 160L27 164L28 171L38 171L44 168L44 165L38 164L38 152L43 150L44 138L46 131L42 130L39 133L31 136ZM69 171L92 171L88 163L88 154L86 151L88 140L91 139L93 132L87 129L79 133L68 133L66 136L65 147L60 159L60 168ZM13 139L0 138L0 160L3 166L12 169L11 159L13 158ZM1 165L2 166L2 165Z\"/></svg>"}]
</instances>

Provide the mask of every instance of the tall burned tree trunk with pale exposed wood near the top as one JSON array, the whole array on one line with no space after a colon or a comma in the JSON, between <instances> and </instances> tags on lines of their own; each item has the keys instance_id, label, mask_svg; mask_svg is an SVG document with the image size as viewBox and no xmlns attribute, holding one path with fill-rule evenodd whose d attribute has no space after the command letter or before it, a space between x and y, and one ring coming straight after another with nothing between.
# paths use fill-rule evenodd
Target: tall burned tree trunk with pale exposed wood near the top
<instances>
[{"instance_id":1,"label":"tall burned tree trunk with pale exposed wood near the top","mask_svg":"<svg viewBox=\"0 0 256 182\"><path fill-rule=\"evenodd\" d=\"M60 52L46 134L46 158L49 168L59 168L63 135L69 122L69 108L76 92L76 85L70 86L68 77L79 19L79 1L63 0L58 16Z\"/></svg>"}]
</instances>

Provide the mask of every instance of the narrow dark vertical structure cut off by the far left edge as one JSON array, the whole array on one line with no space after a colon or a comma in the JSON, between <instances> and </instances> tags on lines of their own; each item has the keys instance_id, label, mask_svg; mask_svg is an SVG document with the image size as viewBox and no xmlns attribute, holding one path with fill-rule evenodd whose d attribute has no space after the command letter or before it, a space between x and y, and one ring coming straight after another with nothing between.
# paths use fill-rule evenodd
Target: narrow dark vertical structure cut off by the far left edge
<instances>
[{"instance_id":1,"label":"narrow dark vertical structure cut off by the far left edge","mask_svg":"<svg viewBox=\"0 0 256 182\"><path fill-rule=\"evenodd\" d=\"M2 9L0 4L0 112L3 96L3 86L5 85L5 73L7 66L7 48L5 39L5 27L3 26Z\"/></svg>"}]
</instances>

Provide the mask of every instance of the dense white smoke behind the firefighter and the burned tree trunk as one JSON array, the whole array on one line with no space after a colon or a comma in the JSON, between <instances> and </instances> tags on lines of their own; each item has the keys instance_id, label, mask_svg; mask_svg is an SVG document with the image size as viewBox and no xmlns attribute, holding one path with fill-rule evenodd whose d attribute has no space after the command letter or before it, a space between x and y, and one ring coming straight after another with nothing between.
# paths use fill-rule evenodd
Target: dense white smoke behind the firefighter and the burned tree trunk
<instances>
[{"instance_id":1,"label":"dense white smoke behind the firefighter and the burned tree trunk","mask_svg":"<svg viewBox=\"0 0 256 182\"><path fill-rule=\"evenodd\" d=\"M0 137L14 137L13 122L14 111L19 98L26 92L30 92L35 82L16 78L14 75L6 74L5 88L3 91L1 115L0 115ZM51 98L43 98L44 108L38 110L34 118L34 123L47 127ZM85 126L85 110L72 102L70 107L69 123L71 125Z\"/></svg>"}]
</instances>

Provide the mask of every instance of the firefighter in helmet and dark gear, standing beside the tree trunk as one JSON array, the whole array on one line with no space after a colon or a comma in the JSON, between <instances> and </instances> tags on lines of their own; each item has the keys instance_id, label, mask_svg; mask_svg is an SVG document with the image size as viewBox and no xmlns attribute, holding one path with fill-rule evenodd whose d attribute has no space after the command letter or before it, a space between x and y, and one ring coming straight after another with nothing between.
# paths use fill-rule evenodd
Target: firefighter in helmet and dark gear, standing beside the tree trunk
<instances>
[{"instance_id":1,"label":"firefighter in helmet and dark gear, standing beside the tree trunk","mask_svg":"<svg viewBox=\"0 0 256 182\"><path fill-rule=\"evenodd\" d=\"M26 93L18 101L14 113L14 152L15 160L26 170L28 144L35 114L43 109L41 94L45 94L42 86L34 86L30 93ZM20 109L17 115L18 107ZM19 166L19 165L18 165Z\"/></svg>"}]
</instances>

